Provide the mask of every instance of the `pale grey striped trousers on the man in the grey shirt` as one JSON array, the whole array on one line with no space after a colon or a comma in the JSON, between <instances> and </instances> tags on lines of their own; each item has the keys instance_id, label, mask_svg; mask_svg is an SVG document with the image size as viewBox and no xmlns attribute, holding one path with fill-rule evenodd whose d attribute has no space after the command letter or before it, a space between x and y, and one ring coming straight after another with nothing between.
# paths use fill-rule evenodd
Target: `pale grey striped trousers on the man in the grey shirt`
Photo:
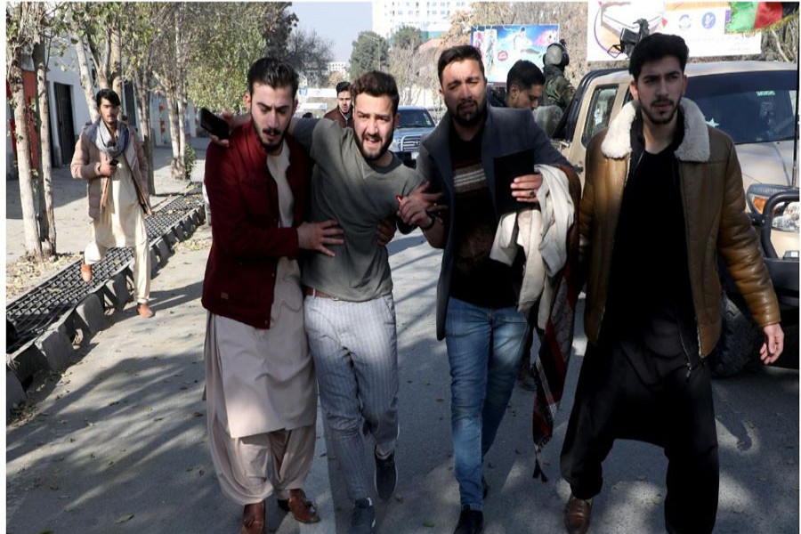
<instances>
[{"instance_id":1,"label":"pale grey striped trousers on the man in the grey shirt","mask_svg":"<svg viewBox=\"0 0 801 534\"><path fill-rule=\"evenodd\" d=\"M303 302L320 405L352 501L370 495L365 438L384 456L398 437L398 336L392 294L352 303Z\"/></svg>"}]
</instances>

